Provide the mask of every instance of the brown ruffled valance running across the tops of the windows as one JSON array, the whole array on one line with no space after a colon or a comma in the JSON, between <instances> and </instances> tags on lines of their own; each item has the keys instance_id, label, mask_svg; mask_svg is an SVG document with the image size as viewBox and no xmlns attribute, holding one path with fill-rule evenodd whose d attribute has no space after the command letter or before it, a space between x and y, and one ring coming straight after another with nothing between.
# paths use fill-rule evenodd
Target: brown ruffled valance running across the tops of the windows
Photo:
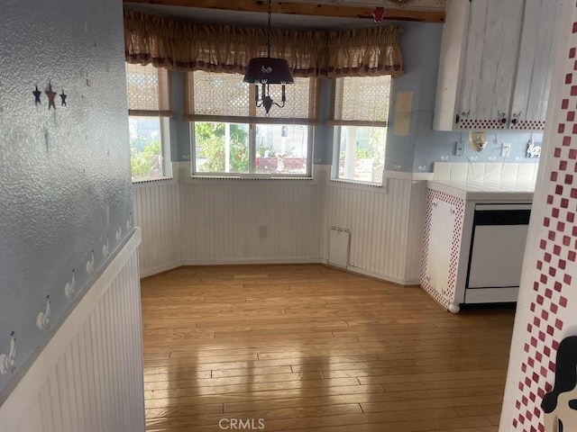
<instances>
[{"instance_id":1,"label":"brown ruffled valance running across the tops of the windows","mask_svg":"<svg viewBox=\"0 0 577 432\"><path fill-rule=\"evenodd\" d=\"M273 29L271 57L286 58L294 76L401 76L400 27L353 31ZM240 73L266 57L266 29L186 23L124 10L126 61L180 70Z\"/></svg>"}]
</instances>

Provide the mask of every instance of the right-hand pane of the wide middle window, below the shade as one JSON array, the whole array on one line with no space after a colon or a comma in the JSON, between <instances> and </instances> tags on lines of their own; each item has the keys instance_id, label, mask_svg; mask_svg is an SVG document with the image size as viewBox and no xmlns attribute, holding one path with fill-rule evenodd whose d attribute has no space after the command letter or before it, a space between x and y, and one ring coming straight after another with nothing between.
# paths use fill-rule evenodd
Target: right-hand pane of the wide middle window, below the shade
<instances>
[{"instance_id":1,"label":"right-hand pane of the wide middle window, below the shade","mask_svg":"<svg viewBox=\"0 0 577 432\"><path fill-rule=\"evenodd\" d=\"M259 124L256 129L256 172L306 175L308 126Z\"/></svg>"}]
</instances>

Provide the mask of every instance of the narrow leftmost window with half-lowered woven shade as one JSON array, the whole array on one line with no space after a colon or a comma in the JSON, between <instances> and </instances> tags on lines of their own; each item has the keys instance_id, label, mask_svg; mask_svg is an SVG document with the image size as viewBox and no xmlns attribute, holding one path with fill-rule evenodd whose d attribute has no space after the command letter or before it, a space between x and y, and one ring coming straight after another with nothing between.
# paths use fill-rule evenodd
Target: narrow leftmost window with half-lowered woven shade
<instances>
[{"instance_id":1,"label":"narrow leftmost window with half-lowered woven shade","mask_svg":"<svg viewBox=\"0 0 577 432\"><path fill-rule=\"evenodd\" d=\"M126 89L133 182L170 175L168 71L126 64Z\"/></svg>"}]
</instances>

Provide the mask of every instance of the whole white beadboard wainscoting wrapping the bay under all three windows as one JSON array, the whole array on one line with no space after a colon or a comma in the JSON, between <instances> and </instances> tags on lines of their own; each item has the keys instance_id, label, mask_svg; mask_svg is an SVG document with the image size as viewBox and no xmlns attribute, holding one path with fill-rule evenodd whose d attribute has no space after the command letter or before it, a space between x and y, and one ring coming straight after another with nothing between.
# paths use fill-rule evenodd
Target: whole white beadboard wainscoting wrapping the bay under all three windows
<instances>
[{"instance_id":1,"label":"whole white beadboard wainscoting wrapping the bay under all three windows","mask_svg":"<svg viewBox=\"0 0 577 432\"><path fill-rule=\"evenodd\" d=\"M330 180L165 180L134 184L141 276L182 265L321 263L328 233L351 233L349 270L418 284L426 182L386 187ZM192 182L192 183L190 183Z\"/></svg>"}]
</instances>

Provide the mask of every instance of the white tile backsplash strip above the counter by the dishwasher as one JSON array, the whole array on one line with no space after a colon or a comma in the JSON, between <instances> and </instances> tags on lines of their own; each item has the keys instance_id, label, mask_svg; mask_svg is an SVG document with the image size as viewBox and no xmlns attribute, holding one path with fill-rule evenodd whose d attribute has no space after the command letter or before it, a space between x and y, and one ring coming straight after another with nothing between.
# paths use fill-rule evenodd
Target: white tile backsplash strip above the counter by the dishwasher
<instances>
[{"instance_id":1,"label":"white tile backsplash strip above the counter by the dishwasher","mask_svg":"<svg viewBox=\"0 0 577 432\"><path fill-rule=\"evenodd\" d=\"M459 183L535 184L538 164L435 163L434 179Z\"/></svg>"}]
</instances>

